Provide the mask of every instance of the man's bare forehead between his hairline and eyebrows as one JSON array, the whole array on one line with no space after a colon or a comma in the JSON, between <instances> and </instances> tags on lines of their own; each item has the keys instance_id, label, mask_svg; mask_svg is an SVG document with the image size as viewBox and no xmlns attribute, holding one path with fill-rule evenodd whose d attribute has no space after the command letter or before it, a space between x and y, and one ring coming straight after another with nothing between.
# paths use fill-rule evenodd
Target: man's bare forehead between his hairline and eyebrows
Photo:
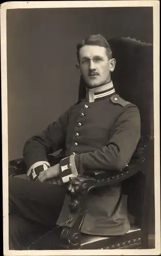
<instances>
[{"instance_id":1,"label":"man's bare forehead between his hairline and eyebrows","mask_svg":"<svg viewBox=\"0 0 161 256\"><path fill-rule=\"evenodd\" d=\"M80 57L91 57L91 56L104 56L106 55L106 48L102 46L85 45L79 50Z\"/></svg>"}]
</instances>

